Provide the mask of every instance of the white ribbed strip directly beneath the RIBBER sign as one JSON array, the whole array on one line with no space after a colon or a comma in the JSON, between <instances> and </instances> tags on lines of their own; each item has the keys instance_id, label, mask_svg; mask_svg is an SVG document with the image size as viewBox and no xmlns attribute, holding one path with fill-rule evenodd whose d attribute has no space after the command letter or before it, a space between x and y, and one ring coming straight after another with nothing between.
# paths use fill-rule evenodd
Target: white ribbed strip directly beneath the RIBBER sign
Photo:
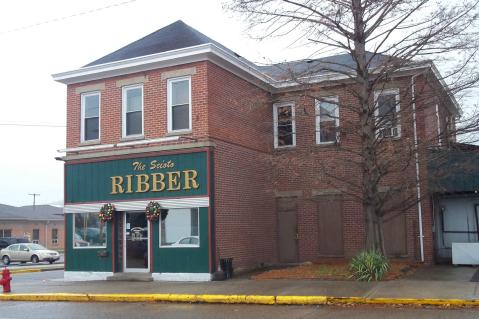
<instances>
[{"instance_id":1,"label":"white ribbed strip directly beneath the RIBBER sign","mask_svg":"<svg viewBox=\"0 0 479 319\"><path fill-rule=\"evenodd\" d=\"M136 201L121 201L115 202L111 201L117 211L135 211L135 210L145 210L145 207L150 201L157 201L162 208L191 208L191 207L209 207L210 198L208 196L202 197L185 197L185 198L174 198L174 199L161 199L161 198L150 198L145 200L136 200ZM72 214L72 213L87 213L87 212L98 212L100 208L106 203L106 201L95 202L95 203L85 203L85 204L65 204L63 207L63 213Z\"/></svg>"}]
</instances>

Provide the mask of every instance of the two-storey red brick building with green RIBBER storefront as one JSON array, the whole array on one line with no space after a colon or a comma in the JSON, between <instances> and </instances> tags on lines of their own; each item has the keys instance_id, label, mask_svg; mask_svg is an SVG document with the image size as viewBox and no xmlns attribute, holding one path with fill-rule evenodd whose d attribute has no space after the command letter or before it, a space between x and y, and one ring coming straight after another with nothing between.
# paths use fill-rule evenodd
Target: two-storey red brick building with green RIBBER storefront
<instances>
[{"instance_id":1,"label":"two-storey red brick building with green RIBBER storefront","mask_svg":"<svg viewBox=\"0 0 479 319\"><path fill-rule=\"evenodd\" d=\"M361 250L362 206L323 174L327 168L360 176L338 147L358 143L338 129L354 122L342 107L354 101L347 81L321 70L321 63L353 61L337 55L257 66L177 21L53 75L68 94L67 148L60 158L65 277L134 271L160 280L210 280L221 258L251 268ZM288 77L291 70L312 69L307 89ZM381 133L395 148L451 125L452 100L430 106L418 99L417 112L408 111L412 79L416 95L426 96L426 77L434 72L432 64L419 63L378 90L376 103L392 99L399 102L395 110L406 109L400 123ZM425 179L427 168L420 166L405 168L384 187L415 184L416 174ZM427 185L422 190L427 193ZM158 220L145 217L150 202L165 209ZM101 223L98 212L107 203L114 204L113 219ZM386 222L391 255L433 261L430 206L424 200Z\"/></svg>"}]
</instances>

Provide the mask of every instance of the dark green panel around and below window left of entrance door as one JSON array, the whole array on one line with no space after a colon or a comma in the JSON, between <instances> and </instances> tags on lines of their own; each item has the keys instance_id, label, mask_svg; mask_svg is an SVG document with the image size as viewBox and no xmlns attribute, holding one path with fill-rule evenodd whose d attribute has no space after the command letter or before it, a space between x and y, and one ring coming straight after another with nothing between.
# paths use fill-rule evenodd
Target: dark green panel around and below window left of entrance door
<instances>
[{"instance_id":1,"label":"dark green panel around and below window left of entrance door","mask_svg":"<svg viewBox=\"0 0 479 319\"><path fill-rule=\"evenodd\" d=\"M81 248L73 249L73 214L65 214L66 218L66 247L65 247L65 270L66 271L112 271L112 240L111 223L107 224L107 246L105 248ZM98 252L107 251L108 256L99 257Z\"/></svg>"}]
</instances>

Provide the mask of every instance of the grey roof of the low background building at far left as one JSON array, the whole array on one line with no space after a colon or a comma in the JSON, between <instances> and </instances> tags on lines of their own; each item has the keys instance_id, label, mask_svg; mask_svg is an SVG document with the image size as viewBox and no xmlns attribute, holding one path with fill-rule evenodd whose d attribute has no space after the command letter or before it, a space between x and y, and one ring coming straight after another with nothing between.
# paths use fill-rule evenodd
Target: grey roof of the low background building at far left
<instances>
[{"instance_id":1,"label":"grey roof of the low background building at far left","mask_svg":"<svg viewBox=\"0 0 479 319\"><path fill-rule=\"evenodd\" d=\"M15 207L0 204L0 220L63 220L63 209L51 205Z\"/></svg>"}]
</instances>

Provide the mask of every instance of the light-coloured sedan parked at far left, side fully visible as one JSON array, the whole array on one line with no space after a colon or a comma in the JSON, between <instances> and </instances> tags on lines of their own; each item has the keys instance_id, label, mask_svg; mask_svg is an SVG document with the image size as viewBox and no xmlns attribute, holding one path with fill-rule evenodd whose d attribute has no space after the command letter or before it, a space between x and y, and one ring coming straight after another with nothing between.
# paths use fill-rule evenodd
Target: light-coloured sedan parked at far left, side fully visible
<instances>
[{"instance_id":1,"label":"light-coloured sedan parked at far left, side fully visible","mask_svg":"<svg viewBox=\"0 0 479 319\"><path fill-rule=\"evenodd\" d=\"M60 254L57 251L32 243L10 245L0 251L0 256L2 256L4 265L10 264L12 261L31 261L35 264L40 261L48 261L52 264L60 259Z\"/></svg>"}]
</instances>

